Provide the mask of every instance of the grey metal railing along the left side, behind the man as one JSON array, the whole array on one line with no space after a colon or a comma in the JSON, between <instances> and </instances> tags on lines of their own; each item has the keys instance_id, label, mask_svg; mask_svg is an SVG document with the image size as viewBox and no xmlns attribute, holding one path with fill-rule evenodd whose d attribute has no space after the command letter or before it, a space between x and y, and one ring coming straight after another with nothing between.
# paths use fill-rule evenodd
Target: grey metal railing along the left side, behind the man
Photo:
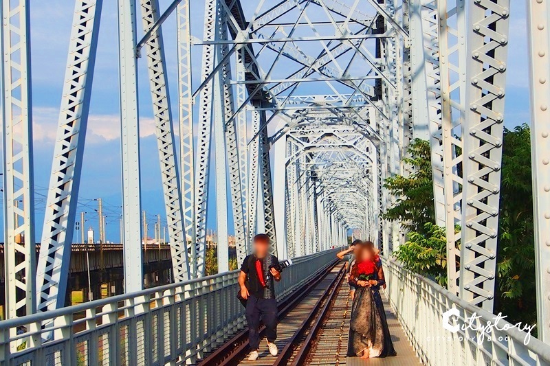
<instances>
[{"instance_id":1,"label":"grey metal railing along the left side, behind the man","mask_svg":"<svg viewBox=\"0 0 550 366\"><path fill-rule=\"evenodd\" d=\"M319 275L336 250L293 260L278 298ZM245 325L239 271L0 321L0 365L193 363Z\"/></svg>"}]
</instances>

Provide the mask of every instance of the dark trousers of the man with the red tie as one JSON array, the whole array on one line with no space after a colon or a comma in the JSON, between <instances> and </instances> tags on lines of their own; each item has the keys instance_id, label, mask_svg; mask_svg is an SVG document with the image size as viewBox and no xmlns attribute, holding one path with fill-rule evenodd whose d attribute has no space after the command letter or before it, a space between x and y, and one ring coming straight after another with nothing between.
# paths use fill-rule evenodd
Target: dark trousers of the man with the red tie
<instances>
[{"instance_id":1,"label":"dark trousers of the man with the red tie","mask_svg":"<svg viewBox=\"0 0 550 366\"><path fill-rule=\"evenodd\" d=\"M258 299L250 295L246 301L246 321L248 322L248 343L252 351L260 346L260 316L265 325L267 341L277 339L277 301L276 299Z\"/></svg>"}]
</instances>

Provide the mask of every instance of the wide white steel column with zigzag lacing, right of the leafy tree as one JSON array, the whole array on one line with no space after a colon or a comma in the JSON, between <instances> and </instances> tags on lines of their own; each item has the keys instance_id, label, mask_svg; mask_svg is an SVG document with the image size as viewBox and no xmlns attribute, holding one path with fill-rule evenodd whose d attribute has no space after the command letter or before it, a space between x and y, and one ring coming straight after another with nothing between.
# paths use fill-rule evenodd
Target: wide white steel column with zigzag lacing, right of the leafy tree
<instances>
[{"instance_id":1,"label":"wide white steel column with zigzag lacing, right of the leafy tree","mask_svg":"<svg viewBox=\"0 0 550 366\"><path fill-rule=\"evenodd\" d=\"M460 295L487 311L496 276L509 5L474 0L468 16Z\"/></svg>"}]
</instances>

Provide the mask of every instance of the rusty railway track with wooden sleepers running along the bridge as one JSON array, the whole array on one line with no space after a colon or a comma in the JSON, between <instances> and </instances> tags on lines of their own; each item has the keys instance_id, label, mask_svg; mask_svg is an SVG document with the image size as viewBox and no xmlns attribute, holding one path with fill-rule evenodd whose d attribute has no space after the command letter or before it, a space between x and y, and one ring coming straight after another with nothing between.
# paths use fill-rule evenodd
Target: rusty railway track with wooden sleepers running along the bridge
<instances>
[{"instance_id":1,"label":"rusty railway track with wooden sleepers running along the bridge","mask_svg":"<svg viewBox=\"0 0 550 366\"><path fill-rule=\"evenodd\" d=\"M302 350L302 346L311 343L310 335L317 334L320 329L321 322L325 319L330 304L341 287L342 268L342 264L329 268L325 275L320 276L305 288L300 288L296 291L296 296L292 296L279 306L276 341L280 351L278 357L269 354L263 339L259 350L260 358L256 361L248 361L246 358L250 348L248 330L245 329L204 358L199 365L290 365L295 359L300 361L305 358L307 350ZM263 332L263 329L260 331Z\"/></svg>"}]
</instances>

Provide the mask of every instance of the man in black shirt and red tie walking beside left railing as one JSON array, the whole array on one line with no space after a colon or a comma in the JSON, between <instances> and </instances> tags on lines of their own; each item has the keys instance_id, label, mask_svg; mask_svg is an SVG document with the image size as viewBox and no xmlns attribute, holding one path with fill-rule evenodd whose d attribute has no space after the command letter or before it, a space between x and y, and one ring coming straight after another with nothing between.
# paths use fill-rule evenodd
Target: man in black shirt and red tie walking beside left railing
<instances>
[{"instance_id":1,"label":"man in black shirt and red tie walking beside left railing","mask_svg":"<svg viewBox=\"0 0 550 366\"><path fill-rule=\"evenodd\" d=\"M270 254L270 238L265 234L254 236L253 251L245 258L239 275L241 297L246 299L246 321L248 322L248 343L252 352L248 359L258 359L260 346L260 316L265 325L267 348L272 356L278 350L277 339L277 301L275 299L275 281L281 281L279 261Z\"/></svg>"}]
</instances>

